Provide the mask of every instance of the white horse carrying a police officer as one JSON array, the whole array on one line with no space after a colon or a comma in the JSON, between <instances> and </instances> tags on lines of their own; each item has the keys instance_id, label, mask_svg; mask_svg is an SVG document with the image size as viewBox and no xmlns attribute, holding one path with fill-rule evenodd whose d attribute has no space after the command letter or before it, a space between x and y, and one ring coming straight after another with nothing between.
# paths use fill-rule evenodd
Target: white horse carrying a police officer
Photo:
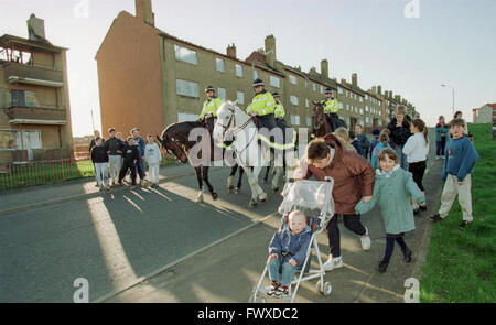
<instances>
[{"instance_id":1,"label":"white horse carrying a police officer","mask_svg":"<svg viewBox=\"0 0 496 325\"><path fill-rule=\"evenodd\" d=\"M256 206L258 201L266 202L267 194L258 185L258 176L263 166L270 165L273 154L271 154L267 145L258 144L258 129L251 117L237 107L236 101L224 102L217 109L217 122L214 127L213 137L218 142L234 140L233 149L236 153L236 162L245 170L251 187L249 206ZM291 162L288 158L287 165L290 169L294 169L295 162ZM251 167L254 169L252 171ZM279 189L279 178L283 172L282 165L278 166L278 164L274 164L274 171L272 189L277 192Z\"/></svg>"}]
</instances>

